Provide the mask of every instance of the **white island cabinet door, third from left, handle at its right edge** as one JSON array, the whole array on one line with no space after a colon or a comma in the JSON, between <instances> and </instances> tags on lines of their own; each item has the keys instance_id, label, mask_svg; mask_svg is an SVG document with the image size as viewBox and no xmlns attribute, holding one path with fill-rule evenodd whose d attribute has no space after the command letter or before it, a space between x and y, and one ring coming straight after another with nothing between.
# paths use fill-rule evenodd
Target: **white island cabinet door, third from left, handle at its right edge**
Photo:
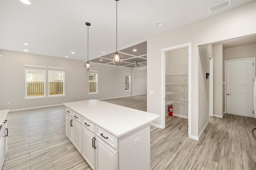
<instances>
[{"instance_id":1,"label":"white island cabinet door, third from left, handle at its right edge","mask_svg":"<svg viewBox=\"0 0 256 170\"><path fill-rule=\"evenodd\" d=\"M82 156L94 169L95 148L93 147L95 135L86 127L82 127Z\"/></svg>"}]
</instances>

